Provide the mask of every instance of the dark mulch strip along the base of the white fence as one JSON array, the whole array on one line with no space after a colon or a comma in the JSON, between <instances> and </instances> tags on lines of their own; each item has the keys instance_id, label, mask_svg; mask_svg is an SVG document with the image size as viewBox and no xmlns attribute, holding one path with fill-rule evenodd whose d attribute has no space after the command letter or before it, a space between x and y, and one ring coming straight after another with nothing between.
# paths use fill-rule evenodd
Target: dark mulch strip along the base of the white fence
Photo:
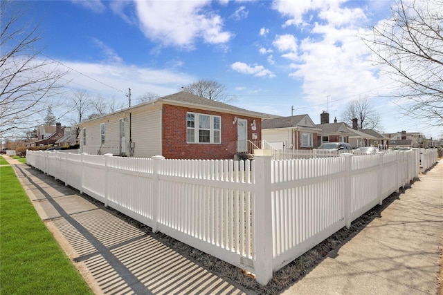
<instances>
[{"instance_id":1,"label":"dark mulch strip along the base of the white fence","mask_svg":"<svg viewBox=\"0 0 443 295\"><path fill-rule=\"evenodd\" d=\"M95 203L98 207L113 213L115 216L130 222L138 229L150 234L153 238L163 242L165 245L174 249L179 254L189 258L201 267L204 267L204 269L207 269L208 271L229 280L230 283L233 283L233 285L237 285L239 288L244 289L244 291L248 294L278 294L311 272L314 267L319 265L322 260L327 257L327 254L329 254L330 251L339 249L342 245L345 245L347 240L350 240L353 236L358 234L359 231L368 225L370 221L372 221L374 218L380 217L381 211L397 200L401 192L402 191L399 193L392 193L390 196L388 196L388 198L383 200L382 205L377 204L368 212L354 220L351 223L350 229L343 227L335 234L329 236L329 238L323 240L323 242L320 242L320 244L307 251L302 256L296 258L282 269L279 269L277 272L274 272L273 278L266 286L258 284L255 281L255 278L251 274L248 274L248 272L244 271L244 269L230 265L223 260L219 260L214 256L190 247L183 242L171 238L170 236L166 236L165 234L153 234L152 229L147 227L147 225L143 225L141 222L129 218L115 209L105 208L101 202L98 202L89 196L84 196L84 198L87 198L91 202Z\"/></svg>"}]
</instances>

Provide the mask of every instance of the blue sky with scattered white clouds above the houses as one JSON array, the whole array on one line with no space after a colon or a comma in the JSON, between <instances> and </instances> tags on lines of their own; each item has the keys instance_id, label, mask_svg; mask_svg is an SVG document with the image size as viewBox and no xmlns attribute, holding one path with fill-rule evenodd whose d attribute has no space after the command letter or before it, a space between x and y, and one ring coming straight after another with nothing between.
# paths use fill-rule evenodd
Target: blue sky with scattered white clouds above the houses
<instances>
[{"instance_id":1,"label":"blue sky with scattered white clouds above the houses","mask_svg":"<svg viewBox=\"0 0 443 295\"><path fill-rule=\"evenodd\" d=\"M230 104L316 124L341 121L352 99L368 97L386 133L430 129L399 114L359 36L390 17L392 1L29 1L42 29L43 58L69 67L67 93L127 102L176 93L214 79ZM67 94L69 95L69 94ZM397 102L398 103L398 102ZM54 106L54 111L57 107Z\"/></svg>"}]
</instances>

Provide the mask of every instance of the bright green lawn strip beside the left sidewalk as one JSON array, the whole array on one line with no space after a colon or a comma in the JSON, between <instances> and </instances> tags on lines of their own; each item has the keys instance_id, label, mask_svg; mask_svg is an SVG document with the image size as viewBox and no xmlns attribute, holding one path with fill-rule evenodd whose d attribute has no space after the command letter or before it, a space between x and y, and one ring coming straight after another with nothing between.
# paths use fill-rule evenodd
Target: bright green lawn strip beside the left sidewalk
<instances>
[{"instance_id":1,"label":"bright green lawn strip beside the left sidewalk","mask_svg":"<svg viewBox=\"0 0 443 295\"><path fill-rule=\"evenodd\" d=\"M0 294L93 294L11 166L0 167L0 207Z\"/></svg>"}]
</instances>

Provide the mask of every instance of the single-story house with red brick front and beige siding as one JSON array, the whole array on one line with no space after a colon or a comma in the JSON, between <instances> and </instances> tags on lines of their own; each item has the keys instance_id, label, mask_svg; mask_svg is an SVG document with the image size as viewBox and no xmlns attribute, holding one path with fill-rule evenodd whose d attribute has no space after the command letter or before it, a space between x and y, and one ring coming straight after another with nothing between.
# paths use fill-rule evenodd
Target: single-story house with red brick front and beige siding
<instances>
[{"instance_id":1,"label":"single-story house with red brick front and beige siding","mask_svg":"<svg viewBox=\"0 0 443 295\"><path fill-rule=\"evenodd\" d=\"M80 151L170 159L232 159L262 139L263 113L186 92L79 124Z\"/></svg>"}]
</instances>

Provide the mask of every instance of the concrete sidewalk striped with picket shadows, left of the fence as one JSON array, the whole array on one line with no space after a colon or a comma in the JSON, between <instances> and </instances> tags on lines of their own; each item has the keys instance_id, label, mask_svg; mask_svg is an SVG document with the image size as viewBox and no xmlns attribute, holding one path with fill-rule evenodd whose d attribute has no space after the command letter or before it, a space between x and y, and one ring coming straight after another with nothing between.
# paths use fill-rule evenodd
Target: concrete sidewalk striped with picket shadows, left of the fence
<instances>
[{"instance_id":1,"label":"concrete sidewalk striped with picket shadows, left of the fence","mask_svg":"<svg viewBox=\"0 0 443 295\"><path fill-rule=\"evenodd\" d=\"M246 294L98 202L4 156L96 294Z\"/></svg>"}]
</instances>

